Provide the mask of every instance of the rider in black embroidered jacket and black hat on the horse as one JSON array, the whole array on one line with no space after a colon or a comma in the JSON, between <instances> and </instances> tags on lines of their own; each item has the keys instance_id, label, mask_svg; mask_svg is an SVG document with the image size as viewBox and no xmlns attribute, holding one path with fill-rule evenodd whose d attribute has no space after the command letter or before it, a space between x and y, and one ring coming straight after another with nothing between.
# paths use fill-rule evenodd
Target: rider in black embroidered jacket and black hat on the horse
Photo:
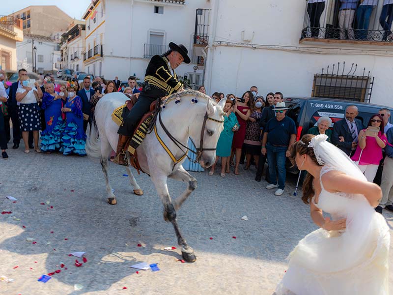
<instances>
[{"instance_id":1,"label":"rider in black embroidered jacket and black hat on the horse","mask_svg":"<svg viewBox=\"0 0 393 295\"><path fill-rule=\"evenodd\" d=\"M157 98L168 96L174 92L183 90L183 85L177 80L174 71L183 61L190 63L188 50L183 44L169 43L170 50L162 56L156 55L150 59L147 65L144 86L138 100L130 113L119 127L119 140L116 148L116 158L113 162L120 165L124 163L125 145L134 134L140 119L149 111L150 104Z\"/></svg>"}]
</instances>

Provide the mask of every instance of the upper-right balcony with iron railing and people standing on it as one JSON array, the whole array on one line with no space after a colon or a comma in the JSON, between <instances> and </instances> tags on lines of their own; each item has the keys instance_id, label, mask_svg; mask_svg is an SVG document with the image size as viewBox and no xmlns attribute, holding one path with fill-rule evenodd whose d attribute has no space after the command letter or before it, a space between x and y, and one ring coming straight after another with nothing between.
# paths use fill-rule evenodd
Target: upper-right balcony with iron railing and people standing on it
<instances>
[{"instance_id":1,"label":"upper-right balcony with iron railing and people standing on it","mask_svg":"<svg viewBox=\"0 0 393 295\"><path fill-rule=\"evenodd\" d=\"M368 5L356 6L356 4L341 7L345 4L339 0L307 3L299 43L310 41L393 45L393 34L386 22L388 16L385 20L380 20L382 4L383 1L379 1L378 6L370 8ZM368 21L365 17L367 15L369 15Z\"/></svg>"}]
</instances>

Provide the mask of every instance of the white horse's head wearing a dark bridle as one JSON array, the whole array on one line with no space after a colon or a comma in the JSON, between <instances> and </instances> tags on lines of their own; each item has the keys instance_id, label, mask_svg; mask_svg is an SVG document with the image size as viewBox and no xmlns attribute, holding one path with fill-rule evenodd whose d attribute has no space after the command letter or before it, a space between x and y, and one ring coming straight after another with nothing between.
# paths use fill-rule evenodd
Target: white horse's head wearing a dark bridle
<instances>
[{"instance_id":1,"label":"white horse's head wearing a dark bridle","mask_svg":"<svg viewBox=\"0 0 393 295\"><path fill-rule=\"evenodd\" d=\"M196 122L190 125L190 137L197 148L197 161L202 168L209 168L216 161L217 142L224 130L224 106L226 98L218 104L208 96L206 109L202 110L202 118L199 116Z\"/></svg>"}]
</instances>

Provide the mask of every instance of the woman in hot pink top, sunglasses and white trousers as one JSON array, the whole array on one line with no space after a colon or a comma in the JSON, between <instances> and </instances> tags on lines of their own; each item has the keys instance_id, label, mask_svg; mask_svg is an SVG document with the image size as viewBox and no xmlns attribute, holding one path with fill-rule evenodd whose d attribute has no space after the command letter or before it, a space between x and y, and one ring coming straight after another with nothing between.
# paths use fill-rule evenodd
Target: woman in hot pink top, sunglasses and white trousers
<instances>
[{"instance_id":1,"label":"woman in hot pink top, sunglasses and white trousers","mask_svg":"<svg viewBox=\"0 0 393 295\"><path fill-rule=\"evenodd\" d=\"M372 136L367 136L368 129L379 132L372 132ZM368 121L367 129L359 132L359 142L352 160L359 162L358 167L364 173L368 181L373 182L377 173L379 162L382 159L382 148L386 147L388 140L384 133L384 120L381 115L374 115Z\"/></svg>"}]
</instances>

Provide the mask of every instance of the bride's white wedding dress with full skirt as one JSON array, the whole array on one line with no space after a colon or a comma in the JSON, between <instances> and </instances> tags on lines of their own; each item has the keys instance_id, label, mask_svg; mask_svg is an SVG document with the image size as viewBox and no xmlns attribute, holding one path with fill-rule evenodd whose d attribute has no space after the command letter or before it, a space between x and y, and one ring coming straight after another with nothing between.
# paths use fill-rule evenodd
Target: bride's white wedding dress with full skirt
<instances>
[{"instance_id":1,"label":"bride's white wedding dress with full skirt","mask_svg":"<svg viewBox=\"0 0 393 295\"><path fill-rule=\"evenodd\" d=\"M338 170L325 165L320 178ZM346 230L318 229L289 254L277 295L389 295L389 227L363 195L330 193L321 181L318 204Z\"/></svg>"}]
</instances>

